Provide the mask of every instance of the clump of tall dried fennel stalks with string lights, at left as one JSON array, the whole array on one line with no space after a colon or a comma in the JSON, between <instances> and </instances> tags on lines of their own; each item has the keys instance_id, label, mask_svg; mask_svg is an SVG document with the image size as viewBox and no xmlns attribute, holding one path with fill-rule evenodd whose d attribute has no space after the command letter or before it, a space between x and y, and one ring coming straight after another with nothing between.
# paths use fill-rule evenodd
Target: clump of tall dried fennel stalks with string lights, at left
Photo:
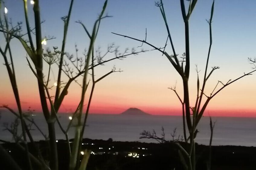
<instances>
[{"instance_id":1,"label":"clump of tall dried fennel stalks with string lights, at left","mask_svg":"<svg viewBox=\"0 0 256 170\"><path fill-rule=\"evenodd\" d=\"M24 17L25 17L25 25L26 25L26 31L22 30L22 23L18 22L16 26L13 26L11 23L11 20L8 20L7 14L0 15L0 32L3 33L6 45L4 48L0 48L0 52L4 58L5 66L8 71L8 76L11 82L11 86L13 89L13 93L15 96L16 104L18 107L18 112L15 112L13 109L8 107L7 105L2 105L1 107L4 107L8 109L11 113L13 113L16 116L16 120L14 121L15 124L8 126L6 124L6 130L10 131L11 134L13 134L14 139L16 141L16 144L23 150L26 150L27 155L27 165L29 169L33 169L31 161L33 163L36 163L40 168L42 169L52 169L57 170L58 167L58 153L57 153L57 144L56 144L56 134L55 134L55 122L58 123L61 131L66 136L67 140L67 147L69 148L69 154L67 157L70 158L69 162L69 169L85 169L87 165L87 161L89 158L90 152L85 152L86 154L83 156L82 164L80 162L80 151L81 151L81 143L83 138L83 132L85 130L86 120L88 117L88 111L91 104L91 99L94 91L94 87L96 83L98 83L100 80L104 79L111 73L115 72L121 72L121 70L117 70L114 66L108 73L104 74L98 79L95 79L95 73L94 68L97 66L104 65L104 63L107 63L109 61L115 60L115 59L123 59L129 55L136 55L141 52L145 52L144 50L136 51L134 48L129 51L128 48L124 50L124 52L120 52L118 47L116 47L113 44L109 45L107 48L107 52L102 54L102 51L100 49L94 50L94 43L96 41L96 37L98 35L99 27L101 20L107 17L111 17L108 15L104 15L105 9L107 7L107 0L104 3L104 6L102 8L102 11L98 17L98 19L94 22L93 30L90 33L86 26L82 23L82 21L77 21L77 23L81 24L84 28L87 36L89 37L90 43L88 50L83 53L83 57L78 57L78 49L75 45L75 51L76 55L75 57L73 55L70 55L68 52L65 51L66 46L66 37L67 37L67 31L69 27L69 21L70 16L72 13L72 6L73 6L74 0L70 1L69 6L69 12L68 15L65 17L62 17L62 20L64 22L64 32L63 32L63 39L62 39L62 47L60 50L58 50L58 47L53 47L53 50L50 48L46 48L46 50L43 50L42 44L45 44L46 41L53 39L54 37L42 37L41 32L41 24L43 23L40 19L40 6L39 6L39 0L34 0L34 19L35 19L35 25L34 28L30 26L29 17L28 17L28 9L27 9L27 0L23 0L24 3ZM4 4L0 0L0 8L1 5ZM33 72L34 76L37 78L38 83L38 90L40 94L40 102L43 110L43 115L47 123L48 127L48 133L49 136L46 136L46 134L43 133L43 131L40 130L40 128L36 125L34 122L34 119L30 116L26 116L21 108L21 102L18 92L18 86L16 82L16 74L14 72L14 61L11 53L11 45L10 41L15 38L18 39L19 42L21 42L21 45L24 47L25 51L27 52L27 63ZM28 40L27 40L28 39ZM35 42L33 41L35 39ZM112 58L106 58L105 56L107 54L114 54L114 57ZM48 64L48 68L46 70L43 69L43 61ZM57 82L55 82L56 91L55 95L52 96L50 94L49 89L52 89L53 86L50 85L50 70L53 64L57 64L59 66L58 69L58 76L57 76ZM46 74L44 73L46 72ZM62 81L62 73L64 73L69 79L67 82ZM54 75L53 75L54 76ZM82 79L82 83L79 83L79 77ZM82 120L82 113L83 108L85 106L85 94L88 92L88 85L89 85L89 79L92 79L92 88L89 92L89 101L86 106L86 112L85 112L85 118ZM77 83L81 86L81 99L77 105L77 109L72 115L72 120L70 120L69 125L66 129L62 127L61 123L58 119L58 112L59 108L61 107L62 101L64 100L65 96L68 94L68 89L71 85L71 83ZM50 105L50 107L48 107ZM50 109L49 109L50 108ZM75 125L75 139L72 144L72 149L69 142L69 136L68 131L70 129L70 126L72 124L72 121L74 119L78 120L77 125ZM21 127L22 127L22 136L17 133L18 128L18 120L21 120ZM46 140L49 140L49 150L50 150L50 160L45 160L41 153L39 148L35 145L33 136L30 134L30 130L33 127L35 127L37 130L40 131L40 133L43 135L43 137ZM27 147L27 136L29 138L29 141L33 144L34 149L37 150L38 155L32 155ZM24 147L19 144L19 142L22 142L24 144ZM0 147L0 151L3 150L2 147ZM4 153L4 151L3 151ZM9 157L8 157L9 159ZM11 159L11 158L10 158ZM11 160L14 162L14 160ZM50 164L48 164L48 161L50 161ZM81 164L81 165L80 165Z\"/></svg>"}]
</instances>

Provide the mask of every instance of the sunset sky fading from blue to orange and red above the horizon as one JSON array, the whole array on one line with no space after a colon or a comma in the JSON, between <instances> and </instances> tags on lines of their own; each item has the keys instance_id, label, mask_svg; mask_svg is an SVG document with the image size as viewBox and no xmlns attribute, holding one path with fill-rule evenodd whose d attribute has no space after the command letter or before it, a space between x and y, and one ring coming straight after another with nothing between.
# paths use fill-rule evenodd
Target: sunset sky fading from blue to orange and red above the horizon
<instances>
[{"instance_id":1,"label":"sunset sky fading from blue to orange and red above the horizon","mask_svg":"<svg viewBox=\"0 0 256 170\"><path fill-rule=\"evenodd\" d=\"M30 1L28 1L29 3ZM164 0L165 12L174 42L175 50L178 54L185 51L184 22L181 16L180 1ZM13 23L23 21L23 1L6 0L5 6L8 8L8 18ZM62 45L63 21L61 17L67 15L69 9L68 0L44 0L40 1L43 36L54 36L56 39L47 41L44 48ZM185 2L188 4L188 2ZM103 0L74 0L73 11L67 36L66 52L75 54L75 44L79 49L78 55L82 57L84 49L88 49L89 39L82 26L75 21L81 20L89 31L92 30L94 21L97 19ZM212 0L198 1L190 17L190 104L194 105L196 99L196 64L201 84L205 69L206 57L209 48L209 25L206 19L210 17ZM247 58L255 57L255 37L256 37L256 1L215 1L212 35L213 45L210 55L210 67L219 66L206 85L206 94L215 87L218 81L227 82L235 79L244 73L252 70L252 65ZM1 9L1 13L3 9ZM29 20L33 25L33 5L28 4ZM167 31L162 19L160 10L155 6L154 0L109 0L106 14L113 17L105 18L101 22L99 34L95 42L95 47L101 47L102 53L106 51L111 43L119 46L120 51L125 48L136 48L141 45L135 40L123 38L112 34L116 32L138 39L145 38L147 29L147 41L157 47L163 47L167 38ZM25 25L24 25L25 26ZM1 35L0 45L3 48L5 40ZM18 82L18 89L21 96L22 108L28 107L40 112L40 99L37 89L37 80L26 61L26 52L21 44L13 39L11 48L14 56L15 72ZM144 50L152 49L143 45ZM138 48L137 51L140 51ZM166 51L172 54L171 46L168 43ZM114 57L109 54L108 58ZM0 63L4 63L0 57ZM137 107L153 115L181 115L181 103L173 91L168 87L176 84L177 92L183 95L181 77L176 73L171 63L158 51L149 51L139 55L131 55L123 60L113 60L100 66L95 70L96 77L100 77L109 72L115 66L121 69L121 73L113 73L95 87L94 96L91 103L91 113L112 113L118 114L130 107ZM46 65L44 69L47 70ZM10 81L6 67L0 66L0 105L7 104L15 108L14 95L10 86ZM52 74L54 73L54 75ZM53 67L50 79L52 85L56 81L57 66ZM46 74L46 73L45 73ZM47 74L46 74L47 75ZM67 78L63 75L63 82ZM241 116L255 117L255 89L256 76L250 75L231 84L217 94L208 105L205 116ZM50 91L54 94L54 88ZM73 83L69 93L63 101L61 112L72 113L78 105L81 88ZM86 96L88 100L88 94Z\"/></svg>"}]
</instances>

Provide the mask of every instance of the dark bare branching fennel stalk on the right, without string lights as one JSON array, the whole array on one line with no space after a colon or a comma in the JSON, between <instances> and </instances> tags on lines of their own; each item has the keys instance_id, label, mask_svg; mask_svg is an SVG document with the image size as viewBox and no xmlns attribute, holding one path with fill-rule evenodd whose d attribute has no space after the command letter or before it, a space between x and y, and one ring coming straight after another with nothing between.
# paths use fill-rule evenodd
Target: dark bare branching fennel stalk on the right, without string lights
<instances>
[{"instance_id":1,"label":"dark bare branching fennel stalk on the right, without string lights","mask_svg":"<svg viewBox=\"0 0 256 170\"><path fill-rule=\"evenodd\" d=\"M171 49L173 54L168 54L165 51L167 41L165 43L164 49L159 49L155 45L152 45L151 43L142 39L136 39L130 36L122 35L122 34L117 34L112 32L115 35L118 36L123 36L129 39L133 39L139 42L142 42L142 44L147 44L154 49L160 51L161 54L165 55L168 60L171 62L171 65L174 67L174 69L177 71L177 73L181 76L182 82L183 82L183 99L178 95L176 92L176 87L170 88L175 92L175 94L178 96L179 100L181 101L182 104L182 110L183 110L183 128L184 128L184 138L185 141L189 144L189 149L185 150L183 147L178 142L175 142L177 146L180 148L180 156L181 156L181 162L185 162L185 169L189 170L195 170L196 169L196 152L195 152L195 134L197 133L197 125L200 122L200 119L203 116L203 113L209 104L210 100L216 96L223 88L227 87L228 85L232 84L233 82L236 82L237 80L243 78L244 76L251 75L251 73L255 72L256 70L254 69L253 71L249 73L244 73L244 75L234 79L234 80L229 80L226 83L223 83L222 81L218 81L216 86L213 88L213 91L207 95L205 92L205 87L206 87L206 82L209 79L209 77L212 75L213 71L219 69L219 66L213 66L210 72L208 71L208 65L209 65L209 59L210 59L210 51L211 51L211 46L212 46L212 20L213 20L213 11L214 11L214 0L212 3L211 7L211 14L210 14L210 19L207 20L207 23L209 24L210 28L210 45L209 45L209 50L208 50L208 55L207 55L207 61L206 61L206 66L205 66L205 72L204 72L204 78L203 78L203 85L200 88L200 80L198 73L199 71L197 70L197 97L196 97L196 102L194 105L190 104L189 101L189 86L188 86L188 80L190 76L190 45L189 45L189 18L197 4L197 0L187 0L189 3L188 4L188 9L186 11L185 8L185 2L184 0L180 0L180 5L181 5L181 13L184 21L184 27L185 27L185 53L183 53L182 57L178 57L178 54L175 52L174 48L174 43L171 38L171 29L168 26L167 18L165 15L165 9L162 0L160 2L155 2L155 6L157 6L160 9L160 12L162 14L162 17L164 19L165 27L167 30L168 34L168 39L171 44ZM222 85L219 87L218 85ZM219 87L219 88L218 88ZM206 97L206 101L203 103L203 98ZM186 124L186 125L185 125ZM188 132L189 132L189 137L186 138L186 128L187 126ZM144 131L145 132L145 131ZM146 134L147 135L147 134ZM154 138L156 138L155 134L151 134ZM159 138L158 140L162 140L162 138Z\"/></svg>"}]
</instances>

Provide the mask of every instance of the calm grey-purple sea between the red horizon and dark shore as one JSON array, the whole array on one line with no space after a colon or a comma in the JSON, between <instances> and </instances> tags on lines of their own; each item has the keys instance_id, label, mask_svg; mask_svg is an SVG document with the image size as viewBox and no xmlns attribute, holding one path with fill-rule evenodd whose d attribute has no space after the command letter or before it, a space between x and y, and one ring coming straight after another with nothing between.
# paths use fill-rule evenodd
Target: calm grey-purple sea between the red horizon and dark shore
<instances>
[{"instance_id":1,"label":"calm grey-purple sea between the red horizon and dark shore","mask_svg":"<svg viewBox=\"0 0 256 170\"><path fill-rule=\"evenodd\" d=\"M59 119L66 129L71 115L62 114ZM46 122L43 115L37 114L33 116L38 126L47 134ZM216 121L213 131L212 145L241 145L256 146L256 118L238 118L238 117L213 117ZM0 119L0 139L11 141L12 136L8 131L3 131L3 123L11 122L14 116L11 113L2 113ZM210 139L210 118L203 117L197 129L196 142L199 144L209 144ZM112 138L114 141L140 141L140 142L156 142L152 139L139 139L143 130L152 131L155 129L157 134L161 136L161 127L165 129L165 137L171 140L171 133L174 128L176 134L182 133L182 117L181 116L130 116L130 115L102 115L91 114L88 116L88 126L85 128L85 138L104 139ZM9 123L10 125L10 123ZM34 128L35 129L35 128ZM33 130L31 133L34 140L43 140L43 136ZM59 126L56 123L57 139L64 139ZM70 128L69 137L74 137L74 128Z\"/></svg>"}]
</instances>

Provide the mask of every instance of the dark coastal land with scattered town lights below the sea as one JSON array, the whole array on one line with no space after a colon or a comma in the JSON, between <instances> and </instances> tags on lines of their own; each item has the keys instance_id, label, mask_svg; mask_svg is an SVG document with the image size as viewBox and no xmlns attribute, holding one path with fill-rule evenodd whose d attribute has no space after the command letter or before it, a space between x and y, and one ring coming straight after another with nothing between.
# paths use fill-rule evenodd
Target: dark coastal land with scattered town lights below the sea
<instances>
[{"instance_id":1,"label":"dark coastal land with scattered town lights below the sea","mask_svg":"<svg viewBox=\"0 0 256 170\"><path fill-rule=\"evenodd\" d=\"M70 140L73 141L72 139ZM36 142L45 159L49 158L47 141ZM186 148L185 143L180 143ZM71 143L72 145L72 143ZM18 162L22 169L26 167L25 153L15 143L5 143L2 146ZM102 149L101 149L102 148ZM36 155L29 143L30 152ZM92 153L87 170L183 170L178 156L178 148L173 143L141 143L118 142L109 139L84 139L82 149L91 149ZM68 169L68 147L65 140L58 140L59 169ZM196 144L197 168L204 170L209 158L209 146ZM212 170L255 170L256 147L243 146L212 146ZM81 157L82 159L82 157ZM1 169L11 169L5 159L0 159ZM34 165L35 167L35 165ZM35 169L37 169L35 167Z\"/></svg>"}]
</instances>

